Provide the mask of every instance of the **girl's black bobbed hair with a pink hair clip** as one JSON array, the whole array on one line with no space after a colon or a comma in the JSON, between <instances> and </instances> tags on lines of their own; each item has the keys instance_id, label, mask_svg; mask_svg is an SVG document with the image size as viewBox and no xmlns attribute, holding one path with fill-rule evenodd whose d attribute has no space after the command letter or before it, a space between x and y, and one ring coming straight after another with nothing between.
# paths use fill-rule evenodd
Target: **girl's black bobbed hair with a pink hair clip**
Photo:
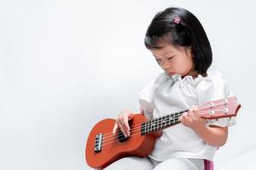
<instances>
[{"instance_id":1,"label":"girl's black bobbed hair with a pink hair clip","mask_svg":"<svg viewBox=\"0 0 256 170\"><path fill-rule=\"evenodd\" d=\"M207 73L212 64L212 48L194 14L184 8L166 8L156 14L148 26L144 43L148 49L160 49L164 42L174 47L191 47L195 71Z\"/></svg>"}]
</instances>

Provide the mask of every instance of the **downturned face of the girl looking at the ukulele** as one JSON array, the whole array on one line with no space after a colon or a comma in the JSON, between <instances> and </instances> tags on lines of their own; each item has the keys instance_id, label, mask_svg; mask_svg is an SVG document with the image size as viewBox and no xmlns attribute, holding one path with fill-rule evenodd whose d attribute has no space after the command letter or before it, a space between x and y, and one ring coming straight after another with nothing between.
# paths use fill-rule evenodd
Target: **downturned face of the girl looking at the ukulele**
<instances>
[{"instance_id":1,"label":"downturned face of the girl looking at the ukulele","mask_svg":"<svg viewBox=\"0 0 256 170\"><path fill-rule=\"evenodd\" d=\"M181 77L195 75L191 48L175 48L170 44L165 44L163 47L150 51L166 73L170 76L179 74Z\"/></svg>"}]
</instances>

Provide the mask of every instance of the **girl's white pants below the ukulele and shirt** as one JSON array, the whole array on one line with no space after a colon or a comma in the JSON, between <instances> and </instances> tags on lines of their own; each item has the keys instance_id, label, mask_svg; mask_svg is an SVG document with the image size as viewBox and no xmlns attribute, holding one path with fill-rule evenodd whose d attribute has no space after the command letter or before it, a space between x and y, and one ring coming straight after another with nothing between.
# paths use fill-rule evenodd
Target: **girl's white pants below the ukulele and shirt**
<instances>
[{"instance_id":1,"label":"girl's white pants below the ukulele and shirt","mask_svg":"<svg viewBox=\"0 0 256 170\"><path fill-rule=\"evenodd\" d=\"M148 157L125 157L114 161L105 170L204 170L204 160L171 158L166 161L154 161Z\"/></svg>"}]
</instances>

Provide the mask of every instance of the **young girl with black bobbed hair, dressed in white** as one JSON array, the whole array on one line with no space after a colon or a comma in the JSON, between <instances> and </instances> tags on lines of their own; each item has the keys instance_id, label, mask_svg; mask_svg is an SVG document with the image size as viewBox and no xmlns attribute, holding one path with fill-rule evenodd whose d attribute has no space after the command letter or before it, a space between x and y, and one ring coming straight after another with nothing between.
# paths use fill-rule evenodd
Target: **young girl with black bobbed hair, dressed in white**
<instances>
[{"instance_id":1,"label":"young girl with black bobbed hair, dressed in white","mask_svg":"<svg viewBox=\"0 0 256 170\"><path fill-rule=\"evenodd\" d=\"M148 157L125 157L106 169L203 170L204 160L212 161L227 140L228 126L234 123L226 118L207 122L196 106L231 95L219 72L207 72L212 64L207 35L188 10L166 8L154 16L144 42L164 73L143 88L141 113L150 119L190 109L179 117L180 124L161 132ZM132 117L131 111L121 111L113 133L119 128L129 136Z\"/></svg>"}]
</instances>

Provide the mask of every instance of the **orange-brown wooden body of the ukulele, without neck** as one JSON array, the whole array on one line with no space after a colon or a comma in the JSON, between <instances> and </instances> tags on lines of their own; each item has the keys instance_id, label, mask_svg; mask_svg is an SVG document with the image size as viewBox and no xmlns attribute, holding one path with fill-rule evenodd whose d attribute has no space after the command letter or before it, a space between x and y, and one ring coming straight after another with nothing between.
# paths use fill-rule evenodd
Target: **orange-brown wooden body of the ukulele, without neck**
<instances>
[{"instance_id":1,"label":"orange-brown wooden body of the ukulele, without neck","mask_svg":"<svg viewBox=\"0 0 256 170\"><path fill-rule=\"evenodd\" d=\"M104 119L96 123L95 127L90 131L87 139L85 157L90 167L102 169L107 167L113 161L116 161L125 156L148 156L154 150L155 139L159 136L156 133L147 133L142 135L140 132L141 125L146 122L147 118L142 114L136 114L130 122L130 126L139 126L137 131L131 131L131 137L120 142L115 136L110 134L113 131L114 119ZM95 152L95 140L97 134L108 134L108 137L103 139L102 150ZM111 138L111 139L110 139ZM104 142L107 141L107 142Z\"/></svg>"}]
</instances>

